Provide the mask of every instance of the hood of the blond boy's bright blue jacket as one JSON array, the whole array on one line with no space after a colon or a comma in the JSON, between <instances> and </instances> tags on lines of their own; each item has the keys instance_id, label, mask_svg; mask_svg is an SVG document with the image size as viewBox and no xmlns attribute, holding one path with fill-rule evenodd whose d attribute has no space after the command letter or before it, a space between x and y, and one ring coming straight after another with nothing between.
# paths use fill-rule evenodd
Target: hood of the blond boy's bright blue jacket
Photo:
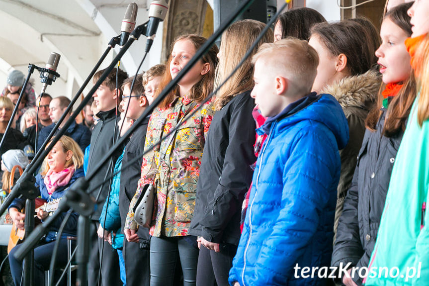
<instances>
[{"instance_id":1,"label":"hood of the blond boy's bright blue jacket","mask_svg":"<svg viewBox=\"0 0 429 286\"><path fill-rule=\"evenodd\" d=\"M291 108L293 106L293 108ZM274 117L268 117L265 124L257 131L258 134L271 130L281 133L300 121L317 121L326 125L334 134L338 148L343 149L348 142L348 123L339 102L332 95L316 95L312 93L291 103ZM277 124L272 124L278 121ZM272 126L273 125L273 126Z\"/></svg>"}]
</instances>

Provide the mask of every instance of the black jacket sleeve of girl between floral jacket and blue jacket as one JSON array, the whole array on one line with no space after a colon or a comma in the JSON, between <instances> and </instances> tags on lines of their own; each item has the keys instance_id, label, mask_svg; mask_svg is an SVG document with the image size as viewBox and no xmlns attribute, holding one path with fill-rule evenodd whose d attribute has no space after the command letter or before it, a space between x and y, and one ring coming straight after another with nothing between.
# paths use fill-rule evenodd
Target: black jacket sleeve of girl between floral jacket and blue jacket
<instances>
[{"instance_id":1,"label":"black jacket sleeve of girl between floral jacket and blue jacket","mask_svg":"<svg viewBox=\"0 0 429 286\"><path fill-rule=\"evenodd\" d=\"M236 104L231 114L229 144L219 185L201 220L202 236L215 243L220 242L223 230L234 214L241 211L244 195L252 181L251 165L256 161L254 102L244 96Z\"/></svg>"}]
</instances>

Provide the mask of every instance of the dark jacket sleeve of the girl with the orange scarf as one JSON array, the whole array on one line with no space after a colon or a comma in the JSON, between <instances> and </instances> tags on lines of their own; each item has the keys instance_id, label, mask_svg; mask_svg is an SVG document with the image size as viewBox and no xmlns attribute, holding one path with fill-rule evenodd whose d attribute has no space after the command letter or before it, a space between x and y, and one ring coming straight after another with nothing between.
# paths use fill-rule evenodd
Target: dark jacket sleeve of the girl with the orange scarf
<instances>
[{"instance_id":1,"label":"dark jacket sleeve of the girl with the orange scarf","mask_svg":"<svg viewBox=\"0 0 429 286\"><path fill-rule=\"evenodd\" d=\"M344 199L343 213L338 223L337 239L332 253L332 266L351 262L355 266L363 255L358 223L358 174L359 166L354 170L350 189Z\"/></svg>"}]
</instances>

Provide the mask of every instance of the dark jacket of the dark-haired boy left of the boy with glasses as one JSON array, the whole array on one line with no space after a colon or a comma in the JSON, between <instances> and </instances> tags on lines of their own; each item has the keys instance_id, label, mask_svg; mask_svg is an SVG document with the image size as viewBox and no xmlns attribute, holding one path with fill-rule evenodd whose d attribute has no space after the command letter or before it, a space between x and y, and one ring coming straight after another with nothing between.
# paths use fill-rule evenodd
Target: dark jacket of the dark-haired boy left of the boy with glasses
<instances>
[{"instance_id":1,"label":"dark jacket of the dark-haired boy left of the boy with glasses","mask_svg":"<svg viewBox=\"0 0 429 286\"><path fill-rule=\"evenodd\" d=\"M95 125L94 130L91 135L91 148L89 150L89 159L88 159L88 169L86 174L92 173L92 170L98 165L99 160L107 154L107 151L113 146L113 132L115 130L116 121L115 121L115 109L109 111L100 111L97 113L97 116L100 118L97 125ZM118 116L119 120L119 116ZM119 131L116 132L118 134ZM89 190L92 190L96 185L101 184L104 181L106 173L111 174L116 160L122 154L121 148L115 151L113 156L107 161L106 164L99 170L99 172L89 181ZM91 192L91 195L96 196L99 187ZM110 184L106 182L101 189L99 196L99 201L97 209L92 214L91 219L97 220L100 217L101 209L103 208L104 200L109 193Z\"/></svg>"}]
</instances>

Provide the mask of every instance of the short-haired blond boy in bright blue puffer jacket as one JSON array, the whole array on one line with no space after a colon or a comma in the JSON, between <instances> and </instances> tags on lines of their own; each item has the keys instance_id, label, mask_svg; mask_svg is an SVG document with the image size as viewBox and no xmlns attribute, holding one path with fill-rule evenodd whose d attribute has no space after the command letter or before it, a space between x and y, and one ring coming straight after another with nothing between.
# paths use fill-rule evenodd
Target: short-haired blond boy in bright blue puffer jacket
<instances>
[{"instance_id":1,"label":"short-haired blond boy in bright blue puffer jacket","mask_svg":"<svg viewBox=\"0 0 429 286\"><path fill-rule=\"evenodd\" d=\"M257 132L268 137L229 282L324 285L299 270L330 265L347 121L332 95L310 93L319 59L306 41L263 44L253 61L251 96L268 117Z\"/></svg>"}]
</instances>

